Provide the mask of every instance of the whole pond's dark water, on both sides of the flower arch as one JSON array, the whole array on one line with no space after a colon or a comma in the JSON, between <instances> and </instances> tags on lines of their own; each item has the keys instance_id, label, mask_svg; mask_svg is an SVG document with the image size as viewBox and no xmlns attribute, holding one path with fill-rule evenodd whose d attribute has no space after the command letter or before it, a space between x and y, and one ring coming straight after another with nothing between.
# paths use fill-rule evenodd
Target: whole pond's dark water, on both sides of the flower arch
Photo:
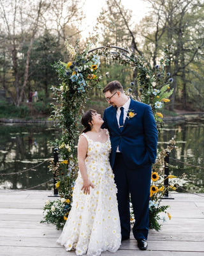
<instances>
[{"instance_id":1,"label":"whole pond's dark water, on both sides of the flower arch","mask_svg":"<svg viewBox=\"0 0 204 256\"><path fill-rule=\"evenodd\" d=\"M52 179L53 175L48 172L47 162L36 168L34 166L53 156L51 141L61 136L58 129L52 125L1 124L0 136L0 189L32 188ZM180 176L186 173L186 180L189 182L184 184L183 188L204 193L204 120L164 125L159 134L158 147L166 148L171 138L175 138L178 148L170 154L170 174ZM201 168L180 163L172 158ZM29 168L33 169L22 172ZM52 188L53 184L50 182L36 189Z\"/></svg>"}]
</instances>

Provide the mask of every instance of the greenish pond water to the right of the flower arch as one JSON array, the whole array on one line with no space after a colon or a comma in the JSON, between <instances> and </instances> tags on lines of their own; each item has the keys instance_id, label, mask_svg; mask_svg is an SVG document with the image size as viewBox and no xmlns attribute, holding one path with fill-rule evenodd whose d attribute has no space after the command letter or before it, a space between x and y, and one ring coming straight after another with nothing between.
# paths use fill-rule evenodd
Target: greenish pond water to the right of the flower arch
<instances>
[{"instance_id":1,"label":"greenish pond water to the right of the flower arch","mask_svg":"<svg viewBox=\"0 0 204 256\"><path fill-rule=\"evenodd\" d=\"M203 193L204 120L174 126L165 125L159 134L159 147L165 148L167 141L171 138L175 139L178 147L170 154L171 174L179 177L182 173L186 173L188 183L184 185L184 188L191 192ZM181 162L193 164L193 166ZM195 166L200 166L200 168Z\"/></svg>"}]
</instances>

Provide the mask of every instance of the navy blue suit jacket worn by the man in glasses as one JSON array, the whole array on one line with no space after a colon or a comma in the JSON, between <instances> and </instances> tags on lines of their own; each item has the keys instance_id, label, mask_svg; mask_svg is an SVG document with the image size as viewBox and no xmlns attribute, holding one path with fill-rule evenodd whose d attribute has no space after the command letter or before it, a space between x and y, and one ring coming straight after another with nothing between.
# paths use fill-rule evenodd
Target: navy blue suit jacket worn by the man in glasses
<instances>
[{"instance_id":1,"label":"navy blue suit jacket worn by the man in glasses","mask_svg":"<svg viewBox=\"0 0 204 256\"><path fill-rule=\"evenodd\" d=\"M152 164L157 154L157 127L154 115L149 105L131 99L129 109L136 115L126 118L124 128L120 132L117 123L117 108L110 106L105 109L102 128L110 132L112 153L110 164L113 168L115 154L120 143L120 151L128 168L135 169L136 166ZM124 113L124 115L128 115Z\"/></svg>"}]
</instances>

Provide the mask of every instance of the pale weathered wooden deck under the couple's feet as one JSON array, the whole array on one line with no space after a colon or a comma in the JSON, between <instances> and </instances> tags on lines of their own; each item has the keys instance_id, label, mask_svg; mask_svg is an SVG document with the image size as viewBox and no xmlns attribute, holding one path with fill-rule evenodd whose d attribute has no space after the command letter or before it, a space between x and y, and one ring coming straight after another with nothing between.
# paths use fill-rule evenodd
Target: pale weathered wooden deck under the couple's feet
<instances>
[{"instance_id":1,"label":"pale weathered wooden deck under the couple's feet","mask_svg":"<svg viewBox=\"0 0 204 256\"><path fill-rule=\"evenodd\" d=\"M61 234L55 226L40 223L42 209L52 191L0 191L0 255L1 256L72 256L75 252L56 244ZM204 195L173 193L171 220L162 230L149 232L149 247L140 251L136 241L122 242L116 253L106 256L203 256L204 255Z\"/></svg>"}]
</instances>

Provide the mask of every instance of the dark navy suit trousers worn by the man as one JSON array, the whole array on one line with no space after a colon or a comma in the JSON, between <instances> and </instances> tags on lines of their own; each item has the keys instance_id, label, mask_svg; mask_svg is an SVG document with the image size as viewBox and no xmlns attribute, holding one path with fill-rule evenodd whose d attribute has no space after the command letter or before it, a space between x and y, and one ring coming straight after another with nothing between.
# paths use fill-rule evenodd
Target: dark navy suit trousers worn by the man
<instances>
[{"instance_id":1,"label":"dark navy suit trousers worn by the man","mask_svg":"<svg viewBox=\"0 0 204 256\"><path fill-rule=\"evenodd\" d=\"M119 205L121 234L124 238L129 238L131 231L129 194L135 215L135 225L133 235L135 239L147 239L149 230L149 195L151 164L137 166L129 169L122 157L122 153L117 153L113 166L115 184L117 185L117 200Z\"/></svg>"}]
</instances>

